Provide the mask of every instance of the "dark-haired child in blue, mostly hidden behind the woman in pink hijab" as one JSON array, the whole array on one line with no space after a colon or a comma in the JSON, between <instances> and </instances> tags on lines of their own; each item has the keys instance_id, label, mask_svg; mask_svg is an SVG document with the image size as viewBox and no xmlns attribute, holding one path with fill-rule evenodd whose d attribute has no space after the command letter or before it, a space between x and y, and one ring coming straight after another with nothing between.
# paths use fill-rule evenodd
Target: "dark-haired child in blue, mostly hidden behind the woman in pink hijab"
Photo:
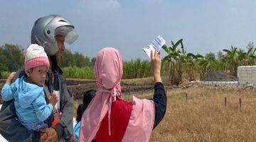
<instances>
[{"instance_id":1,"label":"dark-haired child in blue, mostly hidden behind the woman in pink hijab","mask_svg":"<svg viewBox=\"0 0 256 142\"><path fill-rule=\"evenodd\" d=\"M77 124L75 124L75 128L74 128L75 141L78 141L82 114L84 113L85 109L89 106L89 104L92 101L93 97L95 97L95 93L96 93L95 89L90 89L87 92L85 92L85 94L84 94L84 96L82 98L82 104L80 104L78 106L77 116L76 116Z\"/></svg>"}]
</instances>

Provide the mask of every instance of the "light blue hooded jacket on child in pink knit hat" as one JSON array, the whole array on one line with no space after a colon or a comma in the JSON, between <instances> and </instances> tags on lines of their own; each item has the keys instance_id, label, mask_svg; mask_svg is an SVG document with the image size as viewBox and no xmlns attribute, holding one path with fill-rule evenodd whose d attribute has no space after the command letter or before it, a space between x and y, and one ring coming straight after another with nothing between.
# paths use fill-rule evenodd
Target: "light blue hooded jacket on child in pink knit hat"
<instances>
[{"instance_id":1,"label":"light blue hooded jacket on child in pink knit hat","mask_svg":"<svg viewBox=\"0 0 256 142\"><path fill-rule=\"evenodd\" d=\"M46 104L43 87L26 82L24 75L11 85L4 84L1 95L5 102L15 100L16 114L24 126L45 121L53 110L51 104Z\"/></svg>"}]
</instances>

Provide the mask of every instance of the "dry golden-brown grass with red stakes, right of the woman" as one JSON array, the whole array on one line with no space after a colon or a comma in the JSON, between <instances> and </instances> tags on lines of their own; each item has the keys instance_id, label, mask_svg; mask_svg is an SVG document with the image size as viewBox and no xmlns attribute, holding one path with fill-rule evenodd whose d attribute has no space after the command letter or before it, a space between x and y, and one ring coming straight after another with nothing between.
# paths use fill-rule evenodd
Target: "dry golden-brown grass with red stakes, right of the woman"
<instances>
[{"instance_id":1,"label":"dry golden-brown grass with red stakes, right of the woman","mask_svg":"<svg viewBox=\"0 0 256 142\"><path fill-rule=\"evenodd\" d=\"M166 116L153 131L151 141L255 141L255 94L209 88L168 90Z\"/></svg>"}]
</instances>

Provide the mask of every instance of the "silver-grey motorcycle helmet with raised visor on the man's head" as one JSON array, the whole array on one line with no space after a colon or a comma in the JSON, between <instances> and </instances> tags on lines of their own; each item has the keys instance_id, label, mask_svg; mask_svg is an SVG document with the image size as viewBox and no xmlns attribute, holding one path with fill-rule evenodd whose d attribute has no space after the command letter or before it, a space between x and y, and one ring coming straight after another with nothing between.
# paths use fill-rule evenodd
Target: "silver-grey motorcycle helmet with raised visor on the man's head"
<instances>
[{"instance_id":1,"label":"silver-grey motorcycle helmet with raised visor on the man's head","mask_svg":"<svg viewBox=\"0 0 256 142\"><path fill-rule=\"evenodd\" d=\"M38 18L31 31L31 43L43 46L47 55L58 53L55 35L64 35L65 43L72 44L78 39L75 27L67 19L59 15Z\"/></svg>"}]
</instances>

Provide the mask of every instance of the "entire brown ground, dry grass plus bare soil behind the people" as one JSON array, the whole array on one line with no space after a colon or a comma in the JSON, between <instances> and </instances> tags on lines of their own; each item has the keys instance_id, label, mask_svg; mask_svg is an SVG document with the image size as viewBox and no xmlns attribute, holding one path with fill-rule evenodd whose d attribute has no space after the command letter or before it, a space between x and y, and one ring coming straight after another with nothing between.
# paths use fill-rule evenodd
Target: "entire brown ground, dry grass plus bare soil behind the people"
<instances>
[{"instance_id":1,"label":"entire brown ground, dry grass plus bare soil behind the people","mask_svg":"<svg viewBox=\"0 0 256 142\"><path fill-rule=\"evenodd\" d=\"M153 79L122 80L124 99L153 97ZM96 89L93 80L67 80L74 95L75 110L82 94ZM255 141L256 87L186 82L169 85L164 119L151 134L150 141ZM1 86L0 86L1 87ZM186 99L186 94L188 97ZM228 98L225 106L224 98ZM242 107L239 106L242 99Z\"/></svg>"}]
</instances>

